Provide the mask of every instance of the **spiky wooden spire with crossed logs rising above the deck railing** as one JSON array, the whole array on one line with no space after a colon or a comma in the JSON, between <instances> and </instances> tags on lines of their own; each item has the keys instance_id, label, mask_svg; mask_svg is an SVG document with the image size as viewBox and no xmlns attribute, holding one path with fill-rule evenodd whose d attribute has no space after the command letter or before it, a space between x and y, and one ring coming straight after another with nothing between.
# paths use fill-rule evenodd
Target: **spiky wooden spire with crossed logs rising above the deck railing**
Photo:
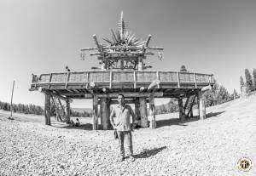
<instances>
[{"instance_id":1,"label":"spiky wooden spire with crossed logs rising above the deck railing","mask_svg":"<svg viewBox=\"0 0 256 176\"><path fill-rule=\"evenodd\" d=\"M98 55L98 59L101 60L101 67L104 70L143 70L150 68L151 66L143 64L143 60L146 59L146 55L154 55L154 53L147 52L147 50L158 50L160 53L160 51L164 49L160 47L148 47L148 43L151 39L150 34L146 41L135 37L135 34L132 34L127 28L123 11L121 11L119 18L118 31L111 30L111 33L111 38L103 37L103 40L107 42L107 44L103 45L98 43L96 35L93 35L96 48L81 49L82 52L86 50L97 50L96 53L90 53L90 55ZM162 58L161 53L158 56L160 59Z\"/></svg>"}]
</instances>

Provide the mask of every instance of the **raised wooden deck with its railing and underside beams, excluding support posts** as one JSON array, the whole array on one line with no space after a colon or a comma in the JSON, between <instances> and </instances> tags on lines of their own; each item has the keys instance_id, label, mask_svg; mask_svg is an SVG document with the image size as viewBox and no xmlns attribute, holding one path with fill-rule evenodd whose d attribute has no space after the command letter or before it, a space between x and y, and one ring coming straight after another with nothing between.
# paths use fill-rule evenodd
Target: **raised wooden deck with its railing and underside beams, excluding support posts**
<instances>
[{"instance_id":1,"label":"raised wooden deck with its railing and underside beams, excluding support posts","mask_svg":"<svg viewBox=\"0 0 256 176\"><path fill-rule=\"evenodd\" d=\"M92 99L92 94L108 97L129 93L147 95L151 82L160 80L155 97L176 97L213 85L213 76L174 71L73 71L32 75L30 90L44 90L67 99ZM143 91L143 88L144 91ZM134 93L134 96L133 94Z\"/></svg>"}]
</instances>

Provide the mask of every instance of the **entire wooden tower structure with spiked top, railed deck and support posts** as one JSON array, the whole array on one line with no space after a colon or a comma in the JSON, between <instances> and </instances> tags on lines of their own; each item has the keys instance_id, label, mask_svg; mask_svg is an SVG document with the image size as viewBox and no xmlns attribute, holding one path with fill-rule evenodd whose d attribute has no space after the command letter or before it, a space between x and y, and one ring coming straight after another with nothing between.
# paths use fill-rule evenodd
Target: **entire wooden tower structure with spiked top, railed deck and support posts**
<instances>
[{"instance_id":1,"label":"entire wooden tower structure with spiked top, railed deck and support posts","mask_svg":"<svg viewBox=\"0 0 256 176\"><path fill-rule=\"evenodd\" d=\"M148 127L148 120L150 127L156 128L154 98L177 98L181 121L186 116L193 116L193 105L197 99L200 119L206 118L203 92L212 88L213 76L186 71L147 71L152 66L145 65L144 60L147 55L154 55L148 50L158 51L160 60L163 57L163 48L148 47L150 38L151 35L141 42L134 37L127 30L121 13L119 31L112 31L112 40L103 38L108 45L98 43L96 35L93 35L96 48L81 49L83 57L86 51L96 51L90 55L97 56L99 68L32 75L30 90L40 90L45 94L45 123L50 125L50 99L57 116L67 123L70 122L71 99L93 99L93 129L99 127L98 118L102 128L109 129L110 105L117 103L118 94L125 95L126 104L135 105L135 113L140 117L143 128ZM183 99L186 99L184 104Z\"/></svg>"}]
</instances>

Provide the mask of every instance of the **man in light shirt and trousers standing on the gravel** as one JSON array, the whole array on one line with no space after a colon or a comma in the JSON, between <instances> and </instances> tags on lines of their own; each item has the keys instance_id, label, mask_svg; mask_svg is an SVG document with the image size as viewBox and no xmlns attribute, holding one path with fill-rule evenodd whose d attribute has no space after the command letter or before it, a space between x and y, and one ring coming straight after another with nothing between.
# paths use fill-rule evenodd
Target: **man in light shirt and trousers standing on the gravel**
<instances>
[{"instance_id":1,"label":"man in light shirt and trousers standing on the gravel","mask_svg":"<svg viewBox=\"0 0 256 176\"><path fill-rule=\"evenodd\" d=\"M133 149L132 149L132 137L131 137L131 122L130 116L132 116L133 122L135 120L135 114L131 109L130 105L125 105L125 96L119 94L118 96L119 105L113 108L110 115L110 122L113 129L117 130L120 145L120 162L125 160L125 148L124 140L126 136L126 142L129 146L129 159L131 162L134 161ZM116 116L115 122L113 122L113 116ZM137 119L136 119L137 120Z\"/></svg>"}]
</instances>

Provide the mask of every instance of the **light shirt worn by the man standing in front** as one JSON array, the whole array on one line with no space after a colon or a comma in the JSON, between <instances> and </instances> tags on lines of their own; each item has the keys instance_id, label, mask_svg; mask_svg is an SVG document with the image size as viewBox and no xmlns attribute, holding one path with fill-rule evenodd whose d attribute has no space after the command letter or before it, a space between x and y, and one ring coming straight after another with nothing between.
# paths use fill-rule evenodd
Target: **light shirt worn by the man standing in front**
<instances>
[{"instance_id":1,"label":"light shirt worn by the man standing in front","mask_svg":"<svg viewBox=\"0 0 256 176\"><path fill-rule=\"evenodd\" d=\"M113 116L113 113L116 116L115 126L117 131L131 131L130 116L135 116L134 112L131 109L131 106L118 105L117 107L113 108L113 111L111 112L111 116Z\"/></svg>"}]
</instances>

